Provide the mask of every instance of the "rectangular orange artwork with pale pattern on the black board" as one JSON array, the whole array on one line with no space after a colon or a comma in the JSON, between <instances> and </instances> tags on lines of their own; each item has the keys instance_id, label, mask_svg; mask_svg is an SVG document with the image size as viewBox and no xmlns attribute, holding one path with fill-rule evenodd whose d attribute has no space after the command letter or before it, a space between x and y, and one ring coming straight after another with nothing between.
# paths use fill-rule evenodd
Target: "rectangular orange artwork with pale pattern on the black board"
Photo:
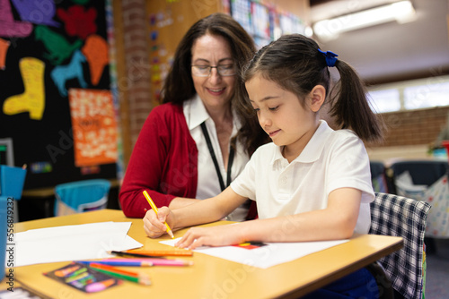
<instances>
[{"instance_id":1,"label":"rectangular orange artwork with pale pattern on the black board","mask_svg":"<svg viewBox=\"0 0 449 299\"><path fill-rule=\"evenodd\" d=\"M117 162L117 123L110 90L68 90L75 166Z\"/></svg>"}]
</instances>

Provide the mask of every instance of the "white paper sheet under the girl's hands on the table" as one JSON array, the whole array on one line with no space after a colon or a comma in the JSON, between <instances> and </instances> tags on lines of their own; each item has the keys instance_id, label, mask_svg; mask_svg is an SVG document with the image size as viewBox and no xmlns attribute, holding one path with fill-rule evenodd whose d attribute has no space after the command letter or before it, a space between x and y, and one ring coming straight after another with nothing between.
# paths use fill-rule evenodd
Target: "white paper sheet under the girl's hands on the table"
<instances>
[{"instance_id":1,"label":"white paper sheet under the girl's hands on the table","mask_svg":"<svg viewBox=\"0 0 449 299\"><path fill-rule=\"evenodd\" d=\"M174 246L180 238L161 241L160 243ZM346 243L349 240L301 242L301 243L267 243L256 249L244 249L236 246L200 247L194 252L206 253L228 261L236 261L245 265L267 269L269 267L299 259L313 252Z\"/></svg>"}]
</instances>

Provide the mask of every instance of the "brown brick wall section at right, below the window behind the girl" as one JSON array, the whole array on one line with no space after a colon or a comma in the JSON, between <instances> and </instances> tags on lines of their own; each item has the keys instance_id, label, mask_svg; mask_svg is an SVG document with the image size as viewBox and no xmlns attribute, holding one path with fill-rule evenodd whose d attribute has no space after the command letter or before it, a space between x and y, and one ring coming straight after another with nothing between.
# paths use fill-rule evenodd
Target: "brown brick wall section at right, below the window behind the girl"
<instances>
[{"instance_id":1,"label":"brown brick wall section at right, below the window behind the girl","mask_svg":"<svg viewBox=\"0 0 449 299\"><path fill-rule=\"evenodd\" d=\"M449 107L384 113L387 133L383 147L429 144L445 126Z\"/></svg>"}]
</instances>

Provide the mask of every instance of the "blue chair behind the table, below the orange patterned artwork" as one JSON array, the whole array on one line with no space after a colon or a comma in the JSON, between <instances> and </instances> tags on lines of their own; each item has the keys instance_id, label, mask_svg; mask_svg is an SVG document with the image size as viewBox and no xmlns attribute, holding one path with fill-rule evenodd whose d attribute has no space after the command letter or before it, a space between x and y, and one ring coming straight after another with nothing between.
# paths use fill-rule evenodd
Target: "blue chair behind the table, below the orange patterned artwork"
<instances>
[{"instance_id":1,"label":"blue chair behind the table, below the orange patterned artwork","mask_svg":"<svg viewBox=\"0 0 449 299\"><path fill-rule=\"evenodd\" d=\"M55 216L105 209L108 204L110 181L92 179L55 187Z\"/></svg>"}]
</instances>

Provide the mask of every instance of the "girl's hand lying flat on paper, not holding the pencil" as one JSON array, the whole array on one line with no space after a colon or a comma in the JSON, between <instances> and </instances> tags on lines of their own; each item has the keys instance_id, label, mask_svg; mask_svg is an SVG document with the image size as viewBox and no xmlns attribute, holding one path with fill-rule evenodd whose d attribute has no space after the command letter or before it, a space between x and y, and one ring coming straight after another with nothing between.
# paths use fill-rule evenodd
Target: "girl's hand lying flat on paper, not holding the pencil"
<instances>
[{"instance_id":1,"label":"girl's hand lying flat on paper, not holding the pencil","mask_svg":"<svg viewBox=\"0 0 449 299\"><path fill-rule=\"evenodd\" d=\"M242 236L242 224L235 223L226 226L192 227L175 246L188 248L207 246L227 246L244 243Z\"/></svg>"}]
</instances>

